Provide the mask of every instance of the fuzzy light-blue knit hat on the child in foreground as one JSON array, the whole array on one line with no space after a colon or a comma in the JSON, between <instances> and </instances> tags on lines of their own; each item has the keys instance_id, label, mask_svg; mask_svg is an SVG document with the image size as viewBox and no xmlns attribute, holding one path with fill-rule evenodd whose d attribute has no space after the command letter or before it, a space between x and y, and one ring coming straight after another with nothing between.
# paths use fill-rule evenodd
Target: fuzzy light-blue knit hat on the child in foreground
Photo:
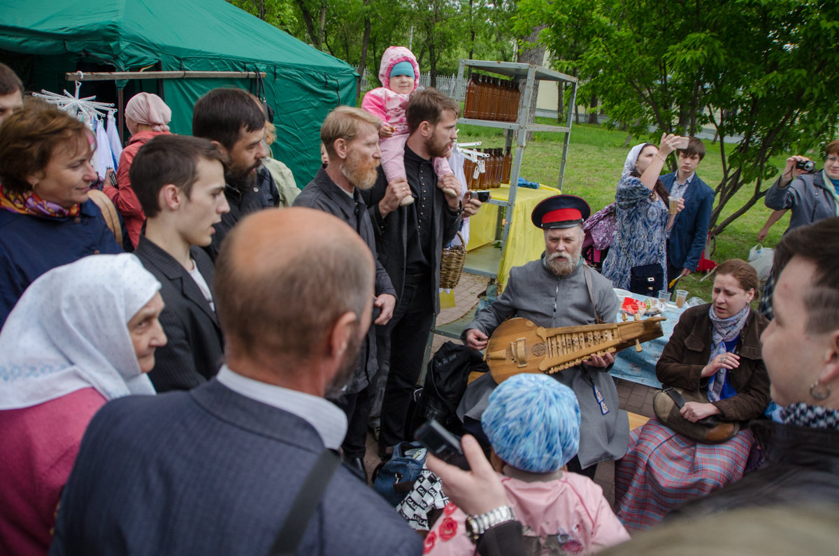
<instances>
[{"instance_id":1,"label":"fuzzy light-blue knit hat on the child in foreground","mask_svg":"<svg viewBox=\"0 0 839 556\"><path fill-rule=\"evenodd\" d=\"M576 395L548 375L504 380L489 396L481 425L499 458L531 473L560 469L580 448Z\"/></svg>"}]
</instances>

